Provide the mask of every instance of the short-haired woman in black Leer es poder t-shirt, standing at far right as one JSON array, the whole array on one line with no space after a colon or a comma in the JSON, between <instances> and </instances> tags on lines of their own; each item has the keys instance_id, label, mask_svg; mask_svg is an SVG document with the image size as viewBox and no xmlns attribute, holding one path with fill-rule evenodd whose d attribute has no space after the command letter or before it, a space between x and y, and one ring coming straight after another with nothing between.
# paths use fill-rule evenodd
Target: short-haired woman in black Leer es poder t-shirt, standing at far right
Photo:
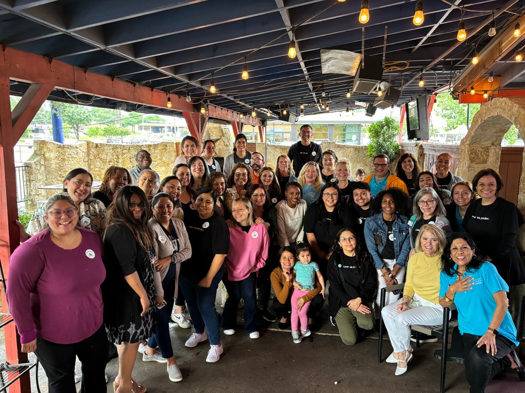
<instances>
[{"instance_id":1,"label":"short-haired woman in black Leer es poder t-shirt, standing at far right","mask_svg":"<svg viewBox=\"0 0 525 393\"><path fill-rule=\"evenodd\" d=\"M516 205L498 196L503 188L501 176L484 169L475 174L472 185L481 198L470 203L461 225L509 286L525 283L525 268L516 248L523 217Z\"/></svg>"}]
</instances>

